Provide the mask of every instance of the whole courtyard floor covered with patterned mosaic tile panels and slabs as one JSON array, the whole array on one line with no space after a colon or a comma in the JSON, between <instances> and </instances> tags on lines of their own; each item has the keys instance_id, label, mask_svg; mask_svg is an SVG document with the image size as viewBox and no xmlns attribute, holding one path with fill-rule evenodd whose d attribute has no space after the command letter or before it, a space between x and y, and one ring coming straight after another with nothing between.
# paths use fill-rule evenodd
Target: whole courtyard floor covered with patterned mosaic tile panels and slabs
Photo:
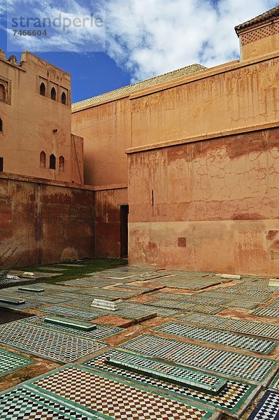
<instances>
[{"instance_id":1,"label":"whole courtyard floor covered with patterned mosaic tile panels and slabs","mask_svg":"<svg viewBox=\"0 0 279 420\"><path fill-rule=\"evenodd\" d=\"M269 279L124 266L56 281L0 290L0 314L31 315L0 325L0 419L279 419Z\"/></svg>"}]
</instances>

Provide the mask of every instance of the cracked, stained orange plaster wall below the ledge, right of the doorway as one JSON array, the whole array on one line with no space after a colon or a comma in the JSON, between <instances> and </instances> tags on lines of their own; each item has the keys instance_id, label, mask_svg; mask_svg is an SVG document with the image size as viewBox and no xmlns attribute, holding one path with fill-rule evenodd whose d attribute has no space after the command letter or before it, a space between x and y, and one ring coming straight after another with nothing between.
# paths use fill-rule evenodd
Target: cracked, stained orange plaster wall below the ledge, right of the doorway
<instances>
[{"instance_id":1,"label":"cracked, stained orange plaster wall below the ledge, right of the doorway","mask_svg":"<svg viewBox=\"0 0 279 420\"><path fill-rule=\"evenodd\" d=\"M278 181L279 129L129 155L129 263L278 276Z\"/></svg>"}]
</instances>

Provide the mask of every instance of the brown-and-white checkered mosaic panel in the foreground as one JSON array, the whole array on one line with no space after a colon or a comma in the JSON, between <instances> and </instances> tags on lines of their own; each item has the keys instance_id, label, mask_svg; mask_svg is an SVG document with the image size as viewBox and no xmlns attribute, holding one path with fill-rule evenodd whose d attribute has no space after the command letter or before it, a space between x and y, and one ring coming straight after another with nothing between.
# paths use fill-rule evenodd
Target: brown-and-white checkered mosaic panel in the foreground
<instances>
[{"instance_id":1,"label":"brown-and-white checkered mosaic panel in the foreground","mask_svg":"<svg viewBox=\"0 0 279 420\"><path fill-rule=\"evenodd\" d=\"M145 391L136 384L66 366L34 381L34 386L52 395L71 400L113 419L208 419L212 412L172 397Z\"/></svg>"}]
</instances>

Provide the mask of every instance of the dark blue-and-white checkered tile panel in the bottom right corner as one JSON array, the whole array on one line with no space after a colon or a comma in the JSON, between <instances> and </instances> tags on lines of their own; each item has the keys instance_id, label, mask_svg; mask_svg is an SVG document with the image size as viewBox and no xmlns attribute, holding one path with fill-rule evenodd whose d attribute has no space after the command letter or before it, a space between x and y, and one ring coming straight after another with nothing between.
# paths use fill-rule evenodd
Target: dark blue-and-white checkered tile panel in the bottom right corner
<instances>
[{"instance_id":1,"label":"dark blue-and-white checkered tile panel in the bottom right corner","mask_svg":"<svg viewBox=\"0 0 279 420\"><path fill-rule=\"evenodd\" d=\"M279 393L266 391L248 420L279 419Z\"/></svg>"}]
</instances>

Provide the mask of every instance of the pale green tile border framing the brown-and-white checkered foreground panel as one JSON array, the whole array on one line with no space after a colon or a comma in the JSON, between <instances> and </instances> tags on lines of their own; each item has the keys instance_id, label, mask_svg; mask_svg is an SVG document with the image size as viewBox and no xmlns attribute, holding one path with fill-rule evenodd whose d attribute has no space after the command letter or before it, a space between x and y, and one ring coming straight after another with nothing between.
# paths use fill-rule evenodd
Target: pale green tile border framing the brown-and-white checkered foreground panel
<instances>
[{"instance_id":1,"label":"pale green tile border framing the brown-and-white checkered foreground panel","mask_svg":"<svg viewBox=\"0 0 279 420\"><path fill-rule=\"evenodd\" d=\"M45 390L45 389L43 389L43 388L40 388L39 386L36 386L36 385L34 385L34 382L37 382L37 381L39 381L39 380L41 380L41 379L44 379L45 377L49 377L49 376L51 376L52 374L55 374L55 373L57 373L57 372L60 372L61 370L65 370L66 368L68 368L68 367L76 367L76 369L80 369L80 370L83 370L84 372L88 372L88 373L90 373L90 374L94 374L95 376L99 376L99 377L103 377L103 378L106 378L106 379L108 379L108 380L110 380L110 381L115 381L115 382L118 382L118 383L120 383L120 384L124 384L124 385L127 385L127 386L131 386L131 387L134 387L134 388L138 388L138 389L141 389L141 391L145 391L145 393L152 393L152 394L155 394L155 395L159 395L159 396L161 396L162 398L169 398L169 400L173 400L173 401L176 401L176 402L180 402L181 404L184 404L184 405L191 405L191 402L189 402L189 401L187 401L186 399L185 400L183 400L182 398L173 398L173 396L169 396L168 394L164 394L164 393L161 393L161 392L155 392L155 390L149 390L149 389L146 389L144 386L140 386L140 385L138 385L138 384L134 384L133 382L130 382L130 381L128 381L128 380L122 380L122 379L119 379L119 378L117 378L117 377L113 377L113 375L108 375L108 374L104 374L103 372L99 372L99 371L97 371L97 370L93 370L93 369L90 369L90 368L87 368L87 367L84 367L84 366L82 366L82 365L76 365L75 363L69 363L69 364L67 364L67 365L65 365L65 366L62 366L62 367L58 367L57 369L55 369L55 370L52 370L52 371L50 371L50 372L47 372L46 374L43 374L43 375L41 375L41 376L39 376L39 377L36 377L36 378L34 378L34 379L31 379L31 381L28 381L27 382L27 384L29 384L30 386L31 386L31 388L34 388L34 389L36 389L36 391L38 391L38 392L40 392L40 393L43 393L44 395L50 395L50 396L52 396L52 397L54 397L54 398L57 398L57 399L59 399L59 400L61 400L62 402L68 402L69 403L69 401L71 402L71 404L74 406L74 407L78 407L78 408L83 408L83 405L80 405L80 404L78 404L77 402L73 402L72 400L67 400L66 398L64 398L64 397L61 397L60 395L57 395L57 394L55 394L55 393L52 393L52 391L47 391L47 390ZM43 391L42 391L43 390ZM205 416L203 416L203 419L210 419L211 418L211 416L213 416L213 414L215 414L215 411L213 411L212 409L208 409L207 407L206 407L206 405L204 405L204 407L203 407L203 405L194 405L194 407L196 407L196 408L198 408L198 409L201 409L201 410L203 410L203 411L207 411L207 413L206 413L206 415ZM93 409L90 409L90 408L88 408L88 407L86 407L86 409L89 411L89 412L92 412L92 414L96 414L96 415L99 415L100 414L100 412L96 412L95 410L93 410ZM109 417L109 416L106 416L105 414L102 414L102 416L103 416L103 418L104 419L111 419L111 417Z\"/></svg>"}]
</instances>

